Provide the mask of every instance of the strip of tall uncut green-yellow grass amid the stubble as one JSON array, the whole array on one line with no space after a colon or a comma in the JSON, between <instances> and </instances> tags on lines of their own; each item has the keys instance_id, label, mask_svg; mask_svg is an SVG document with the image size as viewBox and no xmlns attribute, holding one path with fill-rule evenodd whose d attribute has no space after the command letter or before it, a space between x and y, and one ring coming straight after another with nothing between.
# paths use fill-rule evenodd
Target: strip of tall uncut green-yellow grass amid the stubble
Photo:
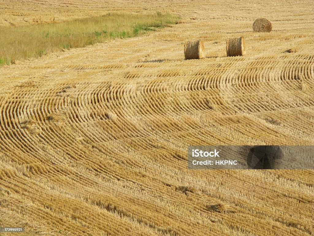
<instances>
[{"instance_id":1,"label":"strip of tall uncut green-yellow grass amid the stubble","mask_svg":"<svg viewBox=\"0 0 314 236\"><path fill-rule=\"evenodd\" d=\"M108 39L138 36L174 24L172 14L114 13L87 19L0 28L0 65L47 53L84 47Z\"/></svg>"}]
</instances>

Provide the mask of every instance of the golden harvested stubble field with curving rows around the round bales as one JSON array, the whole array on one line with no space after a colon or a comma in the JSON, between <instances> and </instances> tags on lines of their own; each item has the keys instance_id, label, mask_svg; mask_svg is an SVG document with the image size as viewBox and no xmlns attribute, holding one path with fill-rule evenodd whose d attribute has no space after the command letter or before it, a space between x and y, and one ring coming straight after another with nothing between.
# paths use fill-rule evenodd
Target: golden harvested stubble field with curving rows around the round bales
<instances>
[{"instance_id":1,"label":"golden harvested stubble field with curving rows around the round bales","mask_svg":"<svg viewBox=\"0 0 314 236\"><path fill-rule=\"evenodd\" d=\"M314 171L187 170L190 144L314 145L312 1L0 7L1 27L36 23L25 14L167 9L182 17L141 37L0 68L0 227L25 227L19 235L314 235ZM273 31L253 32L257 18ZM226 38L241 36L246 55L226 57ZM197 39L205 58L185 60L184 42Z\"/></svg>"}]
</instances>

